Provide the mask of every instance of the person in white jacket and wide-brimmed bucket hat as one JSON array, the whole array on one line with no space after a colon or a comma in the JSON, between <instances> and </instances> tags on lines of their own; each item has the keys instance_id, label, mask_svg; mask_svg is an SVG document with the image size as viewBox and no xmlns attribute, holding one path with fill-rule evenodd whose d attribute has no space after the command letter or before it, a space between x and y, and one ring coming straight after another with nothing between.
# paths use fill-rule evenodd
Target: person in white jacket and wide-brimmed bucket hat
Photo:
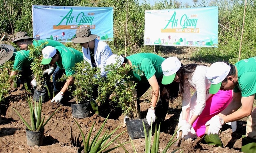
<instances>
[{"instance_id":1,"label":"person in white jacket and wide-brimmed bucket hat","mask_svg":"<svg viewBox=\"0 0 256 153\"><path fill-rule=\"evenodd\" d=\"M106 76L106 62L113 53L108 44L97 40L97 35L92 34L90 28L82 27L76 30L76 37L71 41L82 46L84 60L89 62L92 67L99 67L101 76Z\"/></svg>"}]
</instances>

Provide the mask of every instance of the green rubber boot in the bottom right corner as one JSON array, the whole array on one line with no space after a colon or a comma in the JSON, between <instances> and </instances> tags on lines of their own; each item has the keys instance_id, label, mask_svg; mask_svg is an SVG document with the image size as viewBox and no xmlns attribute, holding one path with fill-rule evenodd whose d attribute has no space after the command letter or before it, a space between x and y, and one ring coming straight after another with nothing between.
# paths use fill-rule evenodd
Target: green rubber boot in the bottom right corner
<instances>
[{"instance_id":1,"label":"green rubber boot in the bottom right corner","mask_svg":"<svg viewBox=\"0 0 256 153\"><path fill-rule=\"evenodd\" d=\"M242 152L256 153L256 139L242 135Z\"/></svg>"}]
</instances>

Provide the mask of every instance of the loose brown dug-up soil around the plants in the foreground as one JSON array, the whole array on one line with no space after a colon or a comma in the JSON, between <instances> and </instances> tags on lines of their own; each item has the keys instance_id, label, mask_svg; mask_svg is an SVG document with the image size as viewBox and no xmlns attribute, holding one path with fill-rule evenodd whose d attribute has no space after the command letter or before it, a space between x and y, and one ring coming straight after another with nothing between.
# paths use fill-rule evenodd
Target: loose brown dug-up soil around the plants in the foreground
<instances>
[{"instance_id":1,"label":"loose brown dug-up soil around the plants in the foreground","mask_svg":"<svg viewBox=\"0 0 256 153\"><path fill-rule=\"evenodd\" d=\"M168 56L168 55L166 55ZM172 54L169 55L173 56ZM182 55L177 54L177 57L182 57ZM182 59L181 59L182 60ZM184 62L184 61L183 61ZM79 128L77 127L74 120L78 122L81 126L85 137L87 137L93 122L96 122L92 130L92 136L94 136L100 129L102 123L104 122L106 116L99 116L98 114L93 114L91 117L84 119L75 119L71 114L71 103L65 103L61 106L60 110L52 117L52 119L45 126L44 142L43 146L29 147L26 142L26 126L19 116L12 109L15 108L20 112L26 121L29 119L29 107L26 101L28 96L32 96L27 91L21 88L15 88L10 91L10 94L2 105L2 123L0 123L0 152L4 153L77 153L81 151L82 137L80 135ZM141 98L140 109L142 117L146 117L147 109L149 106L150 97L144 94ZM61 104L51 103L47 101L43 103L42 113L45 118L48 117L60 106ZM110 116L105 124L103 132L109 130L110 132L117 128L119 125L123 125L124 116L120 110L113 109L114 106L110 105ZM164 122L161 123L160 129L160 144L159 152L162 152L165 146L168 144L172 135L174 134L179 114L181 112L181 102L180 100L174 101L174 103L169 104L168 114ZM241 138L245 134L247 118L237 121L237 130L232 133L230 125L224 125L220 131L220 139L223 142L224 148L214 147L207 144L199 143L196 145L198 139L192 140L181 140L180 147L184 150L184 153L239 153L241 152ZM30 122L29 122L30 124ZM154 129L154 128L153 128ZM111 138L115 137L119 133L125 131L126 128L121 126L116 130ZM154 136L153 136L154 137ZM176 136L175 136L176 138ZM91 138L92 139L92 138ZM128 133L125 132L117 140L121 143L129 142ZM136 151L138 153L145 152L145 139L134 139L132 140ZM115 141L110 147L118 145ZM129 153L133 153L132 144L127 143L124 145ZM168 153L172 152L178 147L172 145L168 149ZM125 152L123 148L119 147L111 151L112 153L123 153ZM177 151L177 152L180 152Z\"/></svg>"}]
</instances>

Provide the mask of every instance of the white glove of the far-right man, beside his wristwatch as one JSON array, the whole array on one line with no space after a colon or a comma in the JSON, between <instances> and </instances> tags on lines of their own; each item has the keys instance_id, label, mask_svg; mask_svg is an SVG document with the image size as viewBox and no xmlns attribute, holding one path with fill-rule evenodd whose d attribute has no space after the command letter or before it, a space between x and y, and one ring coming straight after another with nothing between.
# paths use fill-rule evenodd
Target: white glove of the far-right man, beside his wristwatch
<instances>
[{"instance_id":1,"label":"white glove of the far-right man, beside his wristwatch","mask_svg":"<svg viewBox=\"0 0 256 153\"><path fill-rule=\"evenodd\" d=\"M208 132L207 134L219 134L220 132L220 128L222 127L222 125L220 124L220 116L215 115L211 118L211 120L208 120L205 123L205 126L209 126Z\"/></svg>"}]
</instances>

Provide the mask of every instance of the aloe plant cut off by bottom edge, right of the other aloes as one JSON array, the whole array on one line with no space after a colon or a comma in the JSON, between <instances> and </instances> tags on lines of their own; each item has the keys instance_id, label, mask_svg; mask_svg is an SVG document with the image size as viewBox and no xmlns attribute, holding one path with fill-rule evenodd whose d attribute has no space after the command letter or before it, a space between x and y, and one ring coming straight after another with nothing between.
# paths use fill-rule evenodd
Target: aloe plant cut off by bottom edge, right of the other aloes
<instances>
[{"instance_id":1,"label":"aloe plant cut off by bottom edge, right of the other aloes","mask_svg":"<svg viewBox=\"0 0 256 153\"><path fill-rule=\"evenodd\" d=\"M142 121L143 122L143 121ZM157 128L155 129L155 137L154 137L154 140L153 140L153 144L151 145L151 140L152 140L152 126L150 127L150 129L148 130L148 136L147 136L147 133L146 133L146 128L145 128L145 124L143 122L143 127L144 127L144 133L145 133L145 153L158 153L159 151L159 136L160 136L160 126L161 126L161 123L159 124L159 127L158 127L158 130ZM178 129L179 130L179 129ZM177 131L178 131L177 130ZM167 150L172 146L172 144L176 141L179 140L176 139L176 140L173 140L174 139L174 136L177 134L177 131L175 131L175 133L172 135L171 139L169 140L168 144L165 146L164 150L162 151L162 153L166 153ZM131 139L131 143L132 143L132 148L133 148L133 151L134 153L137 153L136 151L136 148L134 146L134 143L132 142L132 138L130 137ZM118 142L119 143L119 142ZM119 143L120 144L120 143ZM126 153L129 153L125 147L123 145L121 145L121 147L124 149L124 151ZM175 153L176 151L182 149L181 147L180 148L177 148L175 150L173 150L171 153ZM180 153L182 153L184 150L182 150Z\"/></svg>"}]
</instances>

